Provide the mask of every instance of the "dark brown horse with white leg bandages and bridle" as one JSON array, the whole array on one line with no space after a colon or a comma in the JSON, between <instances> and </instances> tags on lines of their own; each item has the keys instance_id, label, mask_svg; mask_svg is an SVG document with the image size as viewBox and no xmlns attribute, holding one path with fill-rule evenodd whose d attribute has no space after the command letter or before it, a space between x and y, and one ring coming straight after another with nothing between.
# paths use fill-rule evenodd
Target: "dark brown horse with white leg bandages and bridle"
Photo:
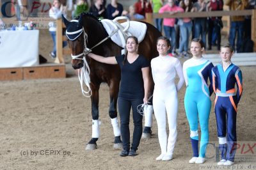
<instances>
[{"instance_id":1,"label":"dark brown horse with white leg bandages and bridle","mask_svg":"<svg viewBox=\"0 0 256 170\"><path fill-rule=\"evenodd\" d=\"M97 140L99 139L99 88L102 82L106 82L109 86L109 117L113 125L115 135L114 148L121 148L122 141L120 139L120 128L117 122L116 103L118 98L119 84L120 84L120 68L118 65L108 65L99 63L91 58L86 57L86 49L92 49L93 53L100 56L116 56L121 54L122 47L116 45L108 36L108 33L102 26L100 20L94 17L91 13L82 13L78 20L68 21L62 16L63 22L66 26L66 35L68 39L68 46L72 51L72 67L74 69L83 68L84 65L90 67L90 86L91 102L92 102L92 139L88 142L86 150L94 150L97 148ZM145 56L148 61L158 56L156 49L156 40L161 33L156 27L144 22L147 25L147 32L145 38L139 43L138 53ZM88 64L87 64L88 63ZM151 69L150 69L151 70ZM82 88L83 90L83 88ZM154 82L152 73L150 71L150 94L154 90ZM151 100L152 102L152 100ZM152 133L152 105L144 112L145 128L143 135L149 137ZM145 114L148 112L147 114ZM146 118L147 117L147 118ZM146 120L149 122L146 125Z\"/></svg>"}]
</instances>

